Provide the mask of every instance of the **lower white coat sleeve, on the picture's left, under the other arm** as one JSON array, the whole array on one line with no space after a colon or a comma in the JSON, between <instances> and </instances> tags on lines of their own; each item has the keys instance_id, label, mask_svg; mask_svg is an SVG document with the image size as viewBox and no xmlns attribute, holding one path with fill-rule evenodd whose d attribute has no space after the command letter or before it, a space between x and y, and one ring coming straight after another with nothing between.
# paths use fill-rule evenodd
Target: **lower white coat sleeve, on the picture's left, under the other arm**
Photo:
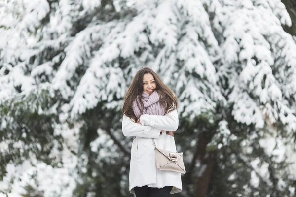
<instances>
[{"instance_id":1,"label":"lower white coat sleeve, on the picture's left, under the other arm","mask_svg":"<svg viewBox=\"0 0 296 197\"><path fill-rule=\"evenodd\" d=\"M129 117L123 115L122 132L126 137L134 136L158 139L160 131L160 129L156 129L148 125L143 126L139 123L135 123Z\"/></svg>"}]
</instances>

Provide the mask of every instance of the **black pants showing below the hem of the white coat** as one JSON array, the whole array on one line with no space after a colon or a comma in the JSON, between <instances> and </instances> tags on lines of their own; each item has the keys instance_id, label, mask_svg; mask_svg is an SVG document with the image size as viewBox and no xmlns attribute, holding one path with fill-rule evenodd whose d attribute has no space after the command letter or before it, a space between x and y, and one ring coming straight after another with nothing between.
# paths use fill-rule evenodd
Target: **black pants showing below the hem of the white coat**
<instances>
[{"instance_id":1,"label":"black pants showing below the hem of the white coat","mask_svg":"<svg viewBox=\"0 0 296 197\"><path fill-rule=\"evenodd\" d=\"M134 187L136 197L168 197L173 186L163 188L150 188L147 185L143 187Z\"/></svg>"}]
</instances>

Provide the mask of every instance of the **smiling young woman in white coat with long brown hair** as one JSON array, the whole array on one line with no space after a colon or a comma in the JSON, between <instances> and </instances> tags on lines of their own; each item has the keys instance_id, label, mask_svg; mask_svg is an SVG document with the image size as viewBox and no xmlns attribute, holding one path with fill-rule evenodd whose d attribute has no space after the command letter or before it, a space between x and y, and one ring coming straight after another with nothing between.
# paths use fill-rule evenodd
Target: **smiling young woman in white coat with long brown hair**
<instances>
[{"instance_id":1,"label":"smiling young woman in white coat with long brown hair","mask_svg":"<svg viewBox=\"0 0 296 197\"><path fill-rule=\"evenodd\" d=\"M156 169L157 148L176 152L179 118L174 93L150 68L140 69L124 97L122 132L133 136L129 190L136 197L167 197L182 191L181 173Z\"/></svg>"}]
</instances>

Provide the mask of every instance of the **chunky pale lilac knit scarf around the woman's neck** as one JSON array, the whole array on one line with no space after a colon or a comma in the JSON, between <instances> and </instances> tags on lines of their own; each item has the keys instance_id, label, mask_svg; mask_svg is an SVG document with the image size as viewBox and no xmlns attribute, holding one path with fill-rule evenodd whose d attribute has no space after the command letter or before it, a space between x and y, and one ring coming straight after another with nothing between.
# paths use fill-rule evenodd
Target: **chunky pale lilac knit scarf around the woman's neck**
<instances>
[{"instance_id":1,"label":"chunky pale lilac knit scarf around the woman's neck","mask_svg":"<svg viewBox=\"0 0 296 197\"><path fill-rule=\"evenodd\" d=\"M137 98L138 99L138 98ZM141 116L140 103L137 99L133 102L133 112L137 118ZM144 104L143 114L164 115L165 109L159 103L159 94L153 91L151 95L146 92L142 93L141 100Z\"/></svg>"}]
</instances>

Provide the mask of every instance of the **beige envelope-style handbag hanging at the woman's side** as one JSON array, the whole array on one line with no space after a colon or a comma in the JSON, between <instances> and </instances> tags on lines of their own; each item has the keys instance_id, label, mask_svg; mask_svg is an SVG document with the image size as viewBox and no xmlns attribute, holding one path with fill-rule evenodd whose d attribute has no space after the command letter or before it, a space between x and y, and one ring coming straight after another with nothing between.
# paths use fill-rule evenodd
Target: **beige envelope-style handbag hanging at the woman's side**
<instances>
[{"instance_id":1,"label":"beige envelope-style handbag hanging at the woman's side","mask_svg":"<svg viewBox=\"0 0 296 197\"><path fill-rule=\"evenodd\" d=\"M186 173L183 163L183 153L174 153L159 149L155 145L155 141L152 138L153 145L155 147L156 167L159 170Z\"/></svg>"}]
</instances>

